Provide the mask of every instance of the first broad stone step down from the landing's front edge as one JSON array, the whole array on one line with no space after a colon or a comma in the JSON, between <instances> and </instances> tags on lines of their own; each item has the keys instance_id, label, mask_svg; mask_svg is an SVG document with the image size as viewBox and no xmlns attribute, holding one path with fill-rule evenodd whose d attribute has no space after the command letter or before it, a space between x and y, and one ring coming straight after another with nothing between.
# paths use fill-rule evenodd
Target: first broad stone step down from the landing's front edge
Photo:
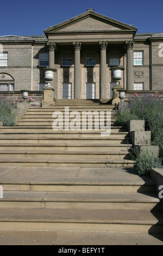
<instances>
[{"instance_id":1,"label":"first broad stone step down from the landing's front edge","mask_svg":"<svg viewBox=\"0 0 163 256\"><path fill-rule=\"evenodd\" d=\"M2 208L160 210L155 194L112 192L4 191Z\"/></svg>"}]
</instances>

